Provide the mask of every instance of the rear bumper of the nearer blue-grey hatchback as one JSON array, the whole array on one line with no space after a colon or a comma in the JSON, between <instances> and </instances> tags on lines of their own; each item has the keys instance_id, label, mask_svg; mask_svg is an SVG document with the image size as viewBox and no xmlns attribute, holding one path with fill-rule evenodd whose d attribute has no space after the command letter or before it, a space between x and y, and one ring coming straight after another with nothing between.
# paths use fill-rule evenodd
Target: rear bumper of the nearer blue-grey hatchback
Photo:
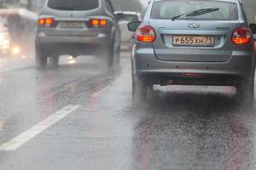
<instances>
[{"instance_id":1,"label":"rear bumper of the nearer blue-grey hatchback","mask_svg":"<svg viewBox=\"0 0 256 170\"><path fill-rule=\"evenodd\" d=\"M236 78L248 77L254 71L254 57L246 52L233 54L226 62L181 62L157 59L153 48L140 48L132 52L131 59L132 71L135 75L154 80L169 78L216 80L218 82L219 79L220 82L228 82L233 79L235 81ZM202 77L183 77L183 73L197 73Z\"/></svg>"}]
</instances>

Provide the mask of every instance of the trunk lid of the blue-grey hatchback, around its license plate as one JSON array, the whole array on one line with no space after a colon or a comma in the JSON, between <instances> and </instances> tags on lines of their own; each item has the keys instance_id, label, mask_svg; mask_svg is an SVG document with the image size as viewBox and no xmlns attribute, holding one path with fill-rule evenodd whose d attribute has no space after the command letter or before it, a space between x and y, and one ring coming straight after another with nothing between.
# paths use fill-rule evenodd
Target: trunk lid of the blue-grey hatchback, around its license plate
<instances>
[{"instance_id":1,"label":"trunk lid of the blue-grey hatchback, around its license plate","mask_svg":"<svg viewBox=\"0 0 256 170\"><path fill-rule=\"evenodd\" d=\"M238 21L193 21L193 20L150 20L156 40L154 53L160 60L184 62L225 62L232 55L233 31L240 26ZM174 37L212 37L213 46L175 46ZM193 42L195 43L195 42ZM180 45L180 44L179 44ZM200 45L201 46L201 45Z\"/></svg>"}]
</instances>

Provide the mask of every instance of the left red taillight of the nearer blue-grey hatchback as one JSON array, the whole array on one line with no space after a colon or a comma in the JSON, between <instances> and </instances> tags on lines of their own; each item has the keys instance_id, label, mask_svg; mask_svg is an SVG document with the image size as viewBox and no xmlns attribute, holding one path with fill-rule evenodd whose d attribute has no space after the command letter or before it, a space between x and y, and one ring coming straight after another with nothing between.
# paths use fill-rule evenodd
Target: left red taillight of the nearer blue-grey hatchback
<instances>
[{"instance_id":1,"label":"left red taillight of the nearer blue-grey hatchback","mask_svg":"<svg viewBox=\"0 0 256 170\"><path fill-rule=\"evenodd\" d=\"M154 42L156 39L154 28L151 26L141 26L137 29L137 41Z\"/></svg>"}]
</instances>

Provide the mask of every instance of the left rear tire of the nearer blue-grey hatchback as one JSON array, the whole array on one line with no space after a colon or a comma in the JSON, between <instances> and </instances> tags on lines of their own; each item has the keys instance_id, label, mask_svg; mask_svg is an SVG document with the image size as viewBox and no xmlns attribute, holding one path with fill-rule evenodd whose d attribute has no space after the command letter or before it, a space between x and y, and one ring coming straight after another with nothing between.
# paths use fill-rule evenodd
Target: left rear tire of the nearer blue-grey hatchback
<instances>
[{"instance_id":1,"label":"left rear tire of the nearer blue-grey hatchback","mask_svg":"<svg viewBox=\"0 0 256 170\"><path fill-rule=\"evenodd\" d=\"M148 84L143 77L132 76L132 104L137 107L147 100Z\"/></svg>"}]
</instances>

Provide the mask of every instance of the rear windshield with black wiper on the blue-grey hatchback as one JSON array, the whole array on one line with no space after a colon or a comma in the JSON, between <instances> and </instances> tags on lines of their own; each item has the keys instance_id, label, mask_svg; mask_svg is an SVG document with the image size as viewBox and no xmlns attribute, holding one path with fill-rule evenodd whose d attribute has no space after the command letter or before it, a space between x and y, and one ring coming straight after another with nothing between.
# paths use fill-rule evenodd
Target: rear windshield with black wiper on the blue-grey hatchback
<instances>
[{"instance_id":1,"label":"rear windshield with black wiper on the blue-grey hatchback","mask_svg":"<svg viewBox=\"0 0 256 170\"><path fill-rule=\"evenodd\" d=\"M198 10L212 8L216 10L193 14ZM177 17L178 15L181 16ZM226 2L161 1L154 3L151 13L152 19L171 20L174 17L176 20L237 20L238 11L236 3Z\"/></svg>"}]
</instances>

